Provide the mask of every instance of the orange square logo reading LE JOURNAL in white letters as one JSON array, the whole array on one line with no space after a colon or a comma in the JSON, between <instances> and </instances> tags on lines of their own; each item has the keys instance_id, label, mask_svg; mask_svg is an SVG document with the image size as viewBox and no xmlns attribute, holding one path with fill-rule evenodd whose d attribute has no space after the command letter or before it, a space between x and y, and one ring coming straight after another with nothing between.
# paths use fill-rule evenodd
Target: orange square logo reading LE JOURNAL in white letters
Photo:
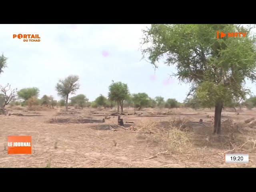
<instances>
[{"instance_id":1,"label":"orange square logo reading LE JOURNAL in white letters","mask_svg":"<svg viewBox=\"0 0 256 192\"><path fill-rule=\"evenodd\" d=\"M8 136L8 154L32 154L32 136Z\"/></svg>"}]
</instances>

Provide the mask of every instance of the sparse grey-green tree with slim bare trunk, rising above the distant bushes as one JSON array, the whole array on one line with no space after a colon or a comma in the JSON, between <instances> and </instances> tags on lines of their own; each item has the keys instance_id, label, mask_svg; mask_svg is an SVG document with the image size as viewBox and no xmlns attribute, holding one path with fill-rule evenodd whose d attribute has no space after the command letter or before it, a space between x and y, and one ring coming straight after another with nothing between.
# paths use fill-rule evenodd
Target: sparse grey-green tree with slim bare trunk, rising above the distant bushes
<instances>
[{"instance_id":1,"label":"sparse grey-green tree with slim bare trunk, rising above the distant bushes","mask_svg":"<svg viewBox=\"0 0 256 192\"><path fill-rule=\"evenodd\" d=\"M77 75L70 75L65 79L59 80L56 85L58 95L66 99L66 111L68 111L68 95L75 94L76 90L80 88L78 80L79 77Z\"/></svg>"}]
</instances>

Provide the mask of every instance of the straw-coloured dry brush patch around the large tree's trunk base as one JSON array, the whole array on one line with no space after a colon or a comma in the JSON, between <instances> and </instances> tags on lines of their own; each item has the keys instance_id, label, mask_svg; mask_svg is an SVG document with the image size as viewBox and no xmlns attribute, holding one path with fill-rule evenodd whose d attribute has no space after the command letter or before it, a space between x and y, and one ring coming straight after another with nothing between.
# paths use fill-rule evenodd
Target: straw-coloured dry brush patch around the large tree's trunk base
<instances>
[{"instance_id":1,"label":"straw-coloured dry brush patch around the large tree's trunk base","mask_svg":"<svg viewBox=\"0 0 256 192\"><path fill-rule=\"evenodd\" d=\"M193 158L202 158L206 154L210 158L212 150L220 153L233 149L256 151L256 129L246 127L244 123L225 120L220 136L212 134L213 126L202 126L200 130L196 134L187 118L142 122L138 125L136 138L157 144L171 154L188 154Z\"/></svg>"}]
</instances>

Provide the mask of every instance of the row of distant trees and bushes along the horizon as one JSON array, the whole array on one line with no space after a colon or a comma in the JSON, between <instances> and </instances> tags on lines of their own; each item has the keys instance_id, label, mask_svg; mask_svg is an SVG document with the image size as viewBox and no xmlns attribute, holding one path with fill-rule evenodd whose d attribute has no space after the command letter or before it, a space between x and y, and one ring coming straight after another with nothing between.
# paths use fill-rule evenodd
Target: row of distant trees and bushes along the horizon
<instances>
[{"instance_id":1,"label":"row of distant trees and bushes along the horizon","mask_svg":"<svg viewBox=\"0 0 256 192\"><path fill-rule=\"evenodd\" d=\"M46 107L55 106L74 106L75 108L97 108L104 107L110 108L117 107L117 111L123 112L123 108L178 108L182 103L178 102L175 98L169 98L164 100L163 97L157 96L156 98L150 98L147 93L130 94L127 84L122 82L114 82L109 86L108 96L100 94L94 101L90 102L85 94L78 94L69 98L70 93L75 94L80 88L78 83L79 77L76 75L70 75L63 80L59 80L56 84L56 91L61 96L61 100L57 101L53 96L44 95L42 98L38 98L40 90L36 87L22 88L16 92L14 98L7 98L6 104L21 105L21 106L33 106L41 105ZM2 89L7 95L7 90Z\"/></svg>"}]
</instances>

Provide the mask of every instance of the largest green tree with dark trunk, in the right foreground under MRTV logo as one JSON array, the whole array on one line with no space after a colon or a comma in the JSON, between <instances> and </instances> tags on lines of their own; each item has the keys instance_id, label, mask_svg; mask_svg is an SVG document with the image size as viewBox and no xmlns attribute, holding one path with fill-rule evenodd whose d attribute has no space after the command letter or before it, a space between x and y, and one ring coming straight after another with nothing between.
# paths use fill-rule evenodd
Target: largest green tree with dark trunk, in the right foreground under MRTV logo
<instances>
[{"instance_id":1,"label":"largest green tree with dark trunk, in the right foreground under MRTV logo","mask_svg":"<svg viewBox=\"0 0 256 192\"><path fill-rule=\"evenodd\" d=\"M214 133L221 131L226 103L244 98L245 79L256 80L255 38L252 27L237 24L152 24L144 30L142 53L157 67L160 58L175 65L174 76L190 83L202 106L215 106ZM244 37L216 38L219 32Z\"/></svg>"}]
</instances>

